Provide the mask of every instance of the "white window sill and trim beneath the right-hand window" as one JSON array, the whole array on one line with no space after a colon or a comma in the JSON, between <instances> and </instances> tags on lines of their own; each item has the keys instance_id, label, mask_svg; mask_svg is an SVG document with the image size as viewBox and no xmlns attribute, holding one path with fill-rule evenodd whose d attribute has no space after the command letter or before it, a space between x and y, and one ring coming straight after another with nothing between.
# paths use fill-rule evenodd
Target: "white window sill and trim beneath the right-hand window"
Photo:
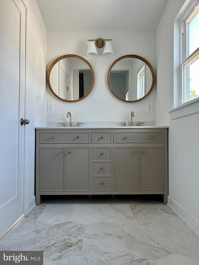
<instances>
[{"instance_id":1,"label":"white window sill and trim beneath the right-hand window","mask_svg":"<svg viewBox=\"0 0 199 265\"><path fill-rule=\"evenodd\" d=\"M169 111L172 120L199 112L199 98L192 99Z\"/></svg>"}]
</instances>

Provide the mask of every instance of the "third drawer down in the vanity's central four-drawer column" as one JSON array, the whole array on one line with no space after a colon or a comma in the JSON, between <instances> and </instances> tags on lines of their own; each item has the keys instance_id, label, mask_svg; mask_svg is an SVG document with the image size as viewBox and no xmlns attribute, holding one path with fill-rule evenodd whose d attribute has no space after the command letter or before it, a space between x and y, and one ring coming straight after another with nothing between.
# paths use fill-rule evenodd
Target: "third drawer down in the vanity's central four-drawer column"
<instances>
[{"instance_id":1,"label":"third drawer down in the vanity's central four-drawer column","mask_svg":"<svg viewBox=\"0 0 199 265\"><path fill-rule=\"evenodd\" d=\"M111 162L92 162L93 176L111 176Z\"/></svg>"}]
</instances>

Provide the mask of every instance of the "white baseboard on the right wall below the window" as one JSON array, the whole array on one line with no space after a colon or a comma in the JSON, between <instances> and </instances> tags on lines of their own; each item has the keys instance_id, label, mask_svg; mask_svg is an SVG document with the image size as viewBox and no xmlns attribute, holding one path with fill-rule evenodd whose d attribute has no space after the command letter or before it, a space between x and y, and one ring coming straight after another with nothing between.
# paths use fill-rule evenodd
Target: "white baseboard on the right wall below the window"
<instances>
[{"instance_id":1,"label":"white baseboard on the right wall below the window","mask_svg":"<svg viewBox=\"0 0 199 265\"><path fill-rule=\"evenodd\" d=\"M199 236L199 220L188 212L182 205L176 202L171 196L168 196L167 205L171 208L180 219L197 235Z\"/></svg>"}]
</instances>

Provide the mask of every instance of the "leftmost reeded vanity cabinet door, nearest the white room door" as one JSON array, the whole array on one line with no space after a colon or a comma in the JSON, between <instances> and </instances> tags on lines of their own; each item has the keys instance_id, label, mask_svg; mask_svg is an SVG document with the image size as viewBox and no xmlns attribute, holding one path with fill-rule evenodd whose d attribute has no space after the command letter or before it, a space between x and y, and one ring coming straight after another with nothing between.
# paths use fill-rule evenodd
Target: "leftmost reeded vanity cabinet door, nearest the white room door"
<instances>
[{"instance_id":1,"label":"leftmost reeded vanity cabinet door, nearest the white room door","mask_svg":"<svg viewBox=\"0 0 199 265\"><path fill-rule=\"evenodd\" d=\"M64 190L65 148L40 148L40 191Z\"/></svg>"}]
</instances>

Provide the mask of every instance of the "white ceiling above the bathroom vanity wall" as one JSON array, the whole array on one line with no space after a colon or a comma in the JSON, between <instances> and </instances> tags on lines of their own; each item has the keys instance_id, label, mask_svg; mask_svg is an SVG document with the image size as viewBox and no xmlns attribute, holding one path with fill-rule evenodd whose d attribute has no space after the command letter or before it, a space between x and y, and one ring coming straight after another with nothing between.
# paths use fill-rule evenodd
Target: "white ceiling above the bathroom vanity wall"
<instances>
[{"instance_id":1,"label":"white ceiling above the bathroom vanity wall","mask_svg":"<svg viewBox=\"0 0 199 265\"><path fill-rule=\"evenodd\" d=\"M37 0L47 30L154 30L168 0Z\"/></svg>"}]
</instances>

